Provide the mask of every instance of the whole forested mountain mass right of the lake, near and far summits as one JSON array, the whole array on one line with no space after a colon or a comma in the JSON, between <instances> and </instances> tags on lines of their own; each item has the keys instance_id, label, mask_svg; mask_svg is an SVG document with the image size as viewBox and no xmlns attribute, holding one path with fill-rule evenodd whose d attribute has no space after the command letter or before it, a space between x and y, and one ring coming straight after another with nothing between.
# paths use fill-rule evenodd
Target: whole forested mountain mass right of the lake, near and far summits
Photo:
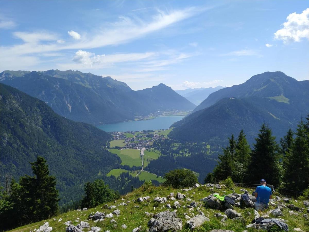
<instances>
[{"instance_id":1,"label":"whole forested mountain mass right of the lake, near and far summits","mask_svg":"<svg viewBox=\"0 0 309 232\"><path fill-rule=\"evenodd\" d=\"M175 128L169 137L223 145L227 137L243 129L252 144L265 122L279 140L308 112L308 80L297 81L283 72L265 72L211 93L192 114L171 126Z\"/></svg>"}]
</instances>

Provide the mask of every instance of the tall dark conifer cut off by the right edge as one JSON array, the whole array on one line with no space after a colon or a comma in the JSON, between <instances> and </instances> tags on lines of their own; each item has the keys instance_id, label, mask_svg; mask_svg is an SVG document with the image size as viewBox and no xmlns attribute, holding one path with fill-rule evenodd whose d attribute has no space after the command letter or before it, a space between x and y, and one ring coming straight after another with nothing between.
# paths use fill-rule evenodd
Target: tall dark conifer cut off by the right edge
<instances>
[{"instance_id":1,"label":"tall dark conifer cut off by the right edge","mask_svg":"<svg viewBox=\"0 0 309 232\"><path fill-rule=\"evenodd\" d=\"M309 185L309 144L306 125L301 118L297 125L296 138L288 150L287 164L284 180L286 188L303 191Z\"/></svg>"}]
</instances>

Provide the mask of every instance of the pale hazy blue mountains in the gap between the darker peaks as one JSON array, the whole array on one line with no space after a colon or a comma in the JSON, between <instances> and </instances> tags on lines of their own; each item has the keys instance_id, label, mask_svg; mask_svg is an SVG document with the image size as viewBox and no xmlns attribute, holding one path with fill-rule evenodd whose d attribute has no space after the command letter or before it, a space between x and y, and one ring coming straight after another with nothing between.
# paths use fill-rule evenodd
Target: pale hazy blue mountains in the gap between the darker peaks
<instances>
[{"instance_id":1,"label":"pale hazy blue mountains in the gap between the darker peaks","mask_svg":"<svg viewBox=\"0 0 309 232\"><path fill-rule=\"evenodd\" d=\"M216 92L219 89L225 88L223 86L210 87L210 88L187 88L185 90L175 90L181 96L187 98L195 105L201 104L211 93Z\"/></svg>"}]
</instances>

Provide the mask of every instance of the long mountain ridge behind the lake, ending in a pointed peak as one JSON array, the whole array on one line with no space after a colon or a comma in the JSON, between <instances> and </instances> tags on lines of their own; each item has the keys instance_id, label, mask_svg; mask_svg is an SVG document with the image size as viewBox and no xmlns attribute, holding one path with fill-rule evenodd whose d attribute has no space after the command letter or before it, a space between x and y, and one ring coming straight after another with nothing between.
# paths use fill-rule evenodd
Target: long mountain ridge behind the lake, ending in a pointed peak
<instances>
[{"instance_id":1,"label":"long mountain ridge behind the lake, ending in a pointed peak","mask_svg":"<svg viewBox=\"0 0 309 232\"><path fill-rule=\"evenodd\" d=\"M80 71L3 71L0 82L39 98L61 116L87 123L120 122L158 110L195 108L162 83L151 92L134 91L111 77Z\"/></svg>"}]
</instances>

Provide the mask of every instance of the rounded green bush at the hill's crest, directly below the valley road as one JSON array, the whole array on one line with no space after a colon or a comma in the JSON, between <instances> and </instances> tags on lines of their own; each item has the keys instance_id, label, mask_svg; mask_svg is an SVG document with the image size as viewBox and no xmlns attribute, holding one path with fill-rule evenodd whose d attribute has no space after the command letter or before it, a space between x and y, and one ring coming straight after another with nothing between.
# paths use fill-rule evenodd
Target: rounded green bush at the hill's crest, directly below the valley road
<instances>
[{"instance_id":1,"label":"rounded green bush at the hill's crest, directly below the valley road","mask_svg":"<svg viewBox=\"0 0 309 232\"><path fill-rule=\"evenodd\" d=\"M191 187L197 183L197 176L193 171L188 169L175 169L164 175L166 181L164 186L172 186L173 188Z\"/></svg>"}]
</instances>

